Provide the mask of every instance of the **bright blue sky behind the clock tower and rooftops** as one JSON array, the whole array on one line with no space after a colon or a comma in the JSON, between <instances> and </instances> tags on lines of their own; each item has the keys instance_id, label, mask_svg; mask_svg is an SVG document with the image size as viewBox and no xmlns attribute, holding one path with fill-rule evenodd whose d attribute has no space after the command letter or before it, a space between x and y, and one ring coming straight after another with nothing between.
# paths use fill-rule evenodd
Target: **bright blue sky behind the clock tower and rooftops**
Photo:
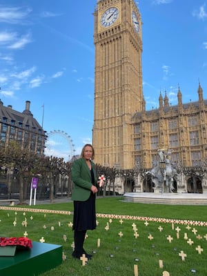
<instances>
[{"instance_id":1,"label":"bright blue sky behind the clock tower and rooftops","mask_svg":"<svg viewBox=\"0 0 207 276\"><path fill-rule=\"evenodd\" d=\"M81 5L80 5L81 2ZM1 0L0 99L22 112L25 102L44 130L67 152L92 142L95 48L92 13L97 0ZM207 0L136 1L143 22L146 108L165 91L177 104L207 99ZM44 108L43 108L44 106ZM72 140L72 142L71 142ZM63 154L63 152L61 153ZM70 155L67 152L66 155Z\"/></svg>"}]
</instances>

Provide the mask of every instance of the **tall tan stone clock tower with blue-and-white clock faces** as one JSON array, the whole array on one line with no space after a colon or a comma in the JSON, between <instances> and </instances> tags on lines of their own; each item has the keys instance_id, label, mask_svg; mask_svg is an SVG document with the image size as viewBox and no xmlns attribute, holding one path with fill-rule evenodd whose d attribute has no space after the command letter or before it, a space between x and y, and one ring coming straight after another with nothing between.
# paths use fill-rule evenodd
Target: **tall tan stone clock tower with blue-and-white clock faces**
<instances>
[{"instance_id":1,"label":"tall tan stone clock tower with blue-and-white clock faces","mask_svg":"<svg viewBox=\"0 0 207 276\"><path fill-rule=\"evenodd\" d=\"M92 144L102 166L135 166L132 115L143 106L141 15L133 0L97 0Z\"/></svg>"}]
</instances>

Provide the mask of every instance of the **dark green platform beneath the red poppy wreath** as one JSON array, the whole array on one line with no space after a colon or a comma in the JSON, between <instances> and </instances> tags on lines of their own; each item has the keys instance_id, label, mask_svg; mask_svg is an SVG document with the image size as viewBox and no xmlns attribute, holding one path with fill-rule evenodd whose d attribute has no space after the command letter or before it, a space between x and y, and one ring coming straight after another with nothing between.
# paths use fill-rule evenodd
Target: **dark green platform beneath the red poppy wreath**
<instances>
[{"instance_id":1,"label":"dark green platform beneath the red poppy wreath","mask_svg":"<svg viewBox=\"0 0 207 276\"><path fill-rule=\"evenodd\" d=\"M17 249L14 257L0 257L1 276L37 276L62 262L62 246L32 242L32 248Z\"/></svg>"}]
</instances>

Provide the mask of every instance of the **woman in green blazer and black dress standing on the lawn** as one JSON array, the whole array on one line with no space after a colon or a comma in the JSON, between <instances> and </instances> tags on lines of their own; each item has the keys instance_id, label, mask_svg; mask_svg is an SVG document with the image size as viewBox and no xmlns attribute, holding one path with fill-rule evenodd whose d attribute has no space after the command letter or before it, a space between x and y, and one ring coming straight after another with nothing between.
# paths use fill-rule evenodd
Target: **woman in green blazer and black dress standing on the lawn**
<instances>
[{"instance_id":1,"label":"woman in green blazer and black dress standing on the lawn","mask_svg":"<svg viewBox=\"0 0 207 276\"><path fill-rule=\"evenodd\" d=\"M86 144L81 157L72 164L72 181L74 188L71 199L74 201L73 228L75 250L72 256L79 259L83 254L92 258L83 249L86 230L96 228L95 197L97 189L97 173L92 162L95 151L92 145Z\"/></svg>"}]
</instances>

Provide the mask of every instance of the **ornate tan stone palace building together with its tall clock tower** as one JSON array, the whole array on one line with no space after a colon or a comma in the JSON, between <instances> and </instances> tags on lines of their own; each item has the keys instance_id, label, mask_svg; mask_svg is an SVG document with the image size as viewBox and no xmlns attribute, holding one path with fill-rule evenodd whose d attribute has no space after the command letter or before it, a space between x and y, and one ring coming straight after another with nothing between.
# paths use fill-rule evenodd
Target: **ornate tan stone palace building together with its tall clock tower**
<instances>
[{"instance_id":1,"label":"ornate tan stone palace building together with its tall clock tower","mask_svg":"<svg viewBox=\"0 0 207 276\"><path fill-rule=\"evenodd\" d=\"M99 0L95 8L95 111L92 144L96 163L152 168L159 148L171 161L199 166L206 160L207 100L198 83L198 101L177 105L167 93L159 108L146 110L142 89L141 14L133 0Z\"/></svg>"}]
</instances>

